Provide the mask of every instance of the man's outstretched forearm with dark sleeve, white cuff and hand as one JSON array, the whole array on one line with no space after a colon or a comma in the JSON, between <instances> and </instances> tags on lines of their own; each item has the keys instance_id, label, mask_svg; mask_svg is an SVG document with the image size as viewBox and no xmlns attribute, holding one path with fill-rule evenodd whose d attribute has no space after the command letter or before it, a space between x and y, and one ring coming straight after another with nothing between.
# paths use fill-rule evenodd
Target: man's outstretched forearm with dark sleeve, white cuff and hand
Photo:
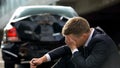
<instances>
[{"instance_id":1,"label":"man's outstretched forearm with dark sleeve, white cuff and hand","mask_svg":"<svg viewBox=\"0 0 120 68\"><path fill-rule=\"evenodd\" d=\"M31 66L37 66L37 65L40 65L44 62L48 62L48 61L51 61L51 60L54 60L54 59L58 59L62 56L65 56L67 54L71 53L70 52L70 49L68 46L61 46L61 47L58 47L56 49L53 49L51 50L50 52L48 52L47 54L45 54L44 56L40 57L40 58L33 58L31 61L30 61L30 65Z\"/></svg>"}]
</instances>

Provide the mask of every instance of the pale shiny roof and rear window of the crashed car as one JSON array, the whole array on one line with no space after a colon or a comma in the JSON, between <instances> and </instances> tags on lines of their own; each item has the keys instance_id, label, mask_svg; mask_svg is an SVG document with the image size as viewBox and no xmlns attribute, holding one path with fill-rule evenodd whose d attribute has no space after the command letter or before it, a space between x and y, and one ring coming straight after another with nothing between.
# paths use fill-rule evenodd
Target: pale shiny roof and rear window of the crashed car
<instances>
[{"instance_id":1,"label":"pale shiny roof and rear window of the crashed car","mask_svg":"<svg viewBox=\"0 0 120 68\"><path fill-rule=\"evenodd\" d=\"M42 13L57 14L65 17L78 16L75 10L70 6L53 6L53 5L39 5L39 6L22 6L15 11L15 18L20 18L28 15L36 15Z\"/></svg>"}]
</instances>

